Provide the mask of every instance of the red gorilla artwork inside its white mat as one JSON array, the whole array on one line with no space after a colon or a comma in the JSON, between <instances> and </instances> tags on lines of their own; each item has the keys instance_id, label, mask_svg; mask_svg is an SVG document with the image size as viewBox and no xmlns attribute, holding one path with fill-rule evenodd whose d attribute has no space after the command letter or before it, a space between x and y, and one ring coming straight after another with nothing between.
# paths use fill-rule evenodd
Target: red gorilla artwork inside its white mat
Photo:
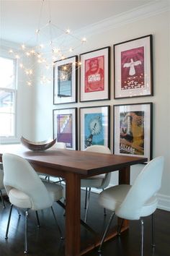
<instances>
[{"instance_id":1,"label":"red gorilla artwork inside its white mat","mask_svg":"<svg viewBox=\"0 0 170 256\"><path fill-rule=\"evenodd\" d=\"M104 56L85 60L85 93L104 90Z\"/></svg>"}]
</instances>

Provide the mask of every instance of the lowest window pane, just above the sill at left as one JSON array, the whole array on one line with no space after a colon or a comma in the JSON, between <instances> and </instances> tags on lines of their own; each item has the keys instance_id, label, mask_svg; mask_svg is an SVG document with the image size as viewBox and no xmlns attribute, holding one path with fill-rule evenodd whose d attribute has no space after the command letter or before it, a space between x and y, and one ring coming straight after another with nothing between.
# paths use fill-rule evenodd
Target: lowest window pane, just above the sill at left
<instances>
[{"instance_id":1,"label":"lowest window pane, just above the sill at left","mask_svg":"<svg viewBox=\"0 0 170 256\"><path fill-rule=\"evenodd\" d=\"M14 136L14 114L0 113L0 136Z\"/></svg>"}]
</instances>

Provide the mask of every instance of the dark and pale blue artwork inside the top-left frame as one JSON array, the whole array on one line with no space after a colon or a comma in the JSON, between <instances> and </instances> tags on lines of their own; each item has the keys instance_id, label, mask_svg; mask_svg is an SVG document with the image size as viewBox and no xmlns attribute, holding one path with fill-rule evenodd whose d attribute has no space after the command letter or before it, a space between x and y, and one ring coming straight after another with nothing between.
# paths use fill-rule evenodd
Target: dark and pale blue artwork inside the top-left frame
<instances>
[{"instance_id":1,"label":"dark and pale blue artwork inside the top-left frame","mask_svg":"<svg viewBox=\"0 0 170 256\"><path fill-rule=\"evenodd\" d=\"M72 64L58 66L58 97L71 97Z\"/></svg>"}]
</instances>

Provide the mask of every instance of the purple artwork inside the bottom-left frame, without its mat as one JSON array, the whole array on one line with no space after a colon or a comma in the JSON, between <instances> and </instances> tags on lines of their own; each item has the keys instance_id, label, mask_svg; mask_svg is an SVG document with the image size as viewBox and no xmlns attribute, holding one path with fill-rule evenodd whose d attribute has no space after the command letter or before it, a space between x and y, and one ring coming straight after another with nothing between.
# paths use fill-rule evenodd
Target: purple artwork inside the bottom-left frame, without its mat
<instances>
[{"instance_id":1,"label":"purple artwork inside the bottom-left frame, without its mat","mask_svg":"<svg viewBox=\"0 0 170 256\"><path fill-rule=\"evenodd\" d=\"M57 115L57 141L66 143L66 148L73 147L72 114Z\"/></svg>"}]
</instances>

